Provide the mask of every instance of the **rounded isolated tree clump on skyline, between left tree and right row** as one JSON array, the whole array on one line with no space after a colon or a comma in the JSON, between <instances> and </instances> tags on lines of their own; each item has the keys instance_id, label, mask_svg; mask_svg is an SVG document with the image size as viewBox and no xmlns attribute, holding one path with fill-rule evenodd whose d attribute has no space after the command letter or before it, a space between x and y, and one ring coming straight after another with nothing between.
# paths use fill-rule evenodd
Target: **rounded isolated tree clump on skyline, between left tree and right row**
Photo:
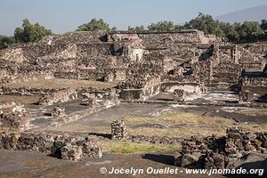
<instances>
[{"instance_id":1,"label":"rounded isolated tree clump on skyline, between left tree and right row","mask_svg":"<svg viewBox=\"0 0 267 178\"><path fill-rule=\"evenodd\" d=\"M85 23L77 28L77 31L98 31L98 30L109 30L109 24L104 20L93 19L88 23Z\"/></svg>"}]
</instances>

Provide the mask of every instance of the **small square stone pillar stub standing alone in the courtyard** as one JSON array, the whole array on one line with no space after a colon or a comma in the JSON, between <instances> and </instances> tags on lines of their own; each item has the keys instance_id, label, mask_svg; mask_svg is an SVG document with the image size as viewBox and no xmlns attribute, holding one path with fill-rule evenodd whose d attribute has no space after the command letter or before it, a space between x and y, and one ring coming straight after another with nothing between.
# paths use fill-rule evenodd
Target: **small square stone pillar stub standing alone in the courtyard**
<instances>
[{"instance_id":1,"label":"small square stone pillar stub standing alone in the courtyard","mask_svg":"<svg viewBox=\"0 0 267 178\"><path fill-rule=\"evenodd\" d=\"M122 120L114 120L111 123L111 139L125 139L127 130L125 122Z\"/></svg>"}]
</instances>

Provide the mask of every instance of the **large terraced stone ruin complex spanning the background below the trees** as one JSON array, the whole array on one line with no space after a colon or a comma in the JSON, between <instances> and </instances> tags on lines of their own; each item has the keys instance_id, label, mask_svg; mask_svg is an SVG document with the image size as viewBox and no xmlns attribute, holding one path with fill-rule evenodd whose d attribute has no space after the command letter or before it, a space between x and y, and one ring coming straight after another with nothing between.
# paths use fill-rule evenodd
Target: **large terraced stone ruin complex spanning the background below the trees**
<instances>
[{"instance_id":1,"label":"large terraced stone ruin complex spanning the background below the trees","mask_svg":"<svg viewBox=\"0 0 267 178\"><path fill-rule=\"evenodd\" d=\"M145 101L168 83L262 96L266 51L266 44L225 44L197 29L72 32L1 50L1 84L37 78L120 81L118 96L128 101ZM73 94L44 94L40 104L67 101Z\"/></svg>"}]
</instances>

